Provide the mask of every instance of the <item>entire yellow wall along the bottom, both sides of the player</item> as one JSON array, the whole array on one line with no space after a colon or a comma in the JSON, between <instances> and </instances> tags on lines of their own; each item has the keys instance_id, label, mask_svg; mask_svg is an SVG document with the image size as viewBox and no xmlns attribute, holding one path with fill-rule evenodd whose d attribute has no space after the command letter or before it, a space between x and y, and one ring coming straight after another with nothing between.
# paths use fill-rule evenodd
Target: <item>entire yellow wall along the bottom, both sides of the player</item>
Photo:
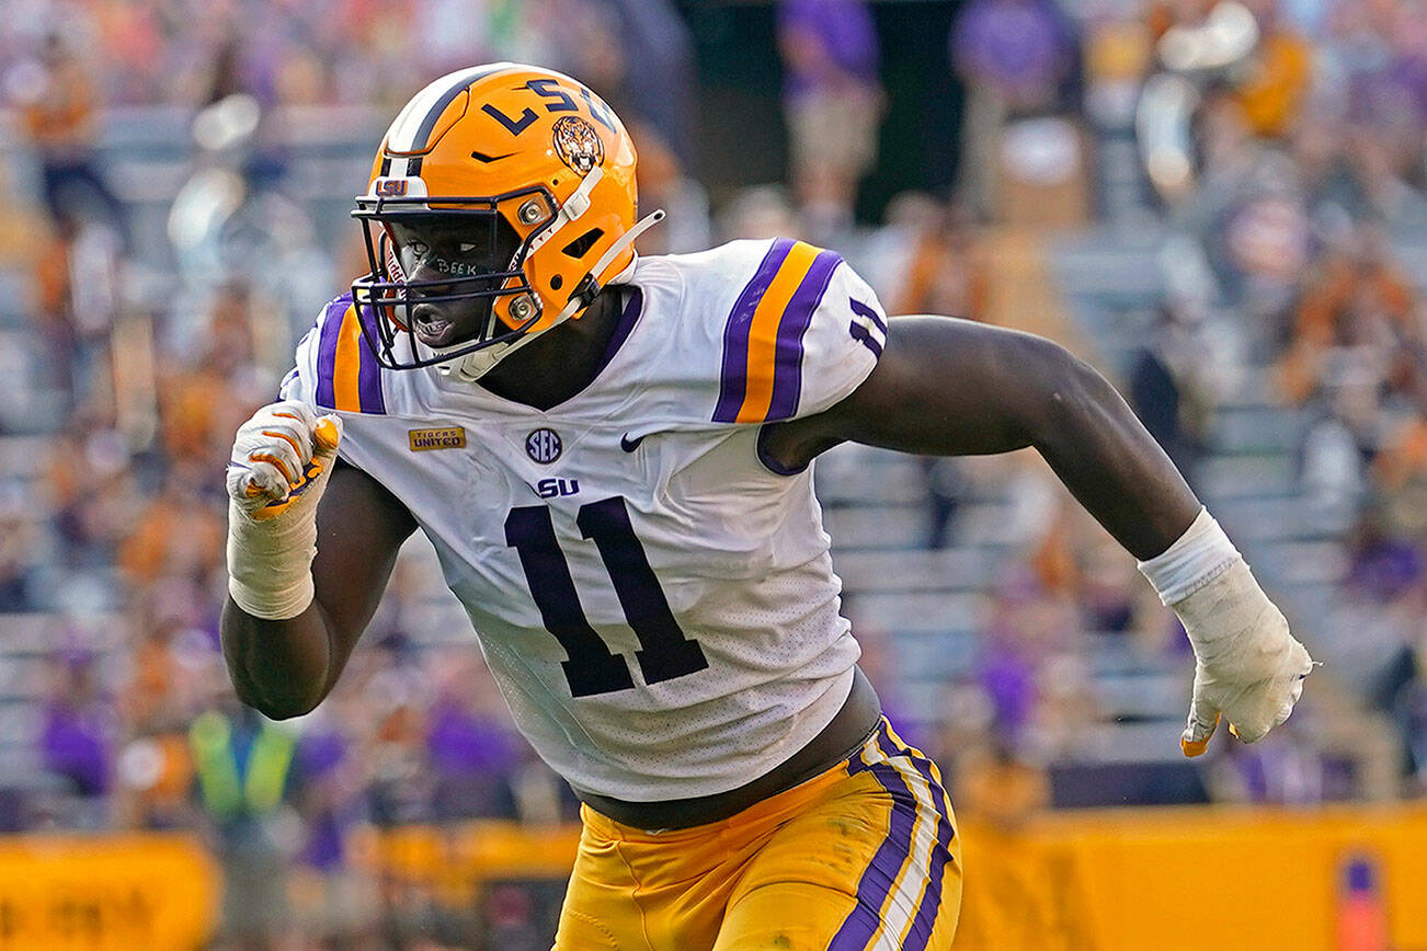
<instances>
[{"instance_id":1,"label":"entire yellow wall along the bottom, both sides of the player","mask_svg":"<svg viewBox=\"0 0 1427 951\"><path fill-rule=\"evenodd\" d=\"M959 951L1427 951L1427 806L1104 810L959 834ZM390 897L472 910L492 881L561 881L577 841L469 823L374 833L357 854ZM218 890L190 837L0 840L0 950L194 948Z\"/></svg>"}]
</instances>

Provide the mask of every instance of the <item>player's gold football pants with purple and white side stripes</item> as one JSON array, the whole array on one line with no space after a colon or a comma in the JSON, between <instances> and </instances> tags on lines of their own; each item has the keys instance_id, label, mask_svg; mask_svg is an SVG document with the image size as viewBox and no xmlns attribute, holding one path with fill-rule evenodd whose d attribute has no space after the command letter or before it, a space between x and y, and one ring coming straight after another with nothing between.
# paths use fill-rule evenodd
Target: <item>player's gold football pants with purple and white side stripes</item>
<instances>
[{"instance_id":1,"label":"player's gold football pants with purple and white side stripes","mask_svg":"<svg viewBox=\"0 0 1427 951\"><path fill-rule=\"evenodd\" d=\"M945 951L956 931L942 777L886 719L845 763L719 823L582 816L557 951Z\"/></svg>"}]
</instances>

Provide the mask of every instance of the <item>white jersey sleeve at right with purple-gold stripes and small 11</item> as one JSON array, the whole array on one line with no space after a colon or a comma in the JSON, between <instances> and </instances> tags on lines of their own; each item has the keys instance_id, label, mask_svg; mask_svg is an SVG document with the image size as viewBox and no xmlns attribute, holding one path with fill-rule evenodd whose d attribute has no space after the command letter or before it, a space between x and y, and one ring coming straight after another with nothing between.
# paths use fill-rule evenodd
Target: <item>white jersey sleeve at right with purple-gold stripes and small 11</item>
<instances>
[{"instance_id":1,"label":"white jersey sleeve at right with purple-gold stripes and small 11","mask_svg":"<svg viewBox=\"0 0 1427 951\"><path fill-rule=\"evenodd\" d=\"M735 241L708 252L696 288L736 292L722 324L714 422L763 423L828 409L868 378L886 342L876 294L836 252L803 241ZM718 291L722 294L718 294ZM722 315L719 315L722 317Z\"/></svg>"}]
</instances>

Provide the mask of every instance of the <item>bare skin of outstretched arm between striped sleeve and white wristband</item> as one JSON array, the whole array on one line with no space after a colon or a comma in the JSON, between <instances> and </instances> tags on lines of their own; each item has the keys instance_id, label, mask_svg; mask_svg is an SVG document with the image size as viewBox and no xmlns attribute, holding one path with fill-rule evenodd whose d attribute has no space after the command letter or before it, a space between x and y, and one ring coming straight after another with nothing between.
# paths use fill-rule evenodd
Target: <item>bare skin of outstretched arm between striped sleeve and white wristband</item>
<instances>
[{"instance_id":1,"label":"bare skin of outstretched arm between striped sleeve and white wristband","mask_svg":"<svg viewBox=\"0 0 1427 951\"><path fill-rule=\"evenodd\" d=\"M1042 336L986 324L895 318L856 392L762 433L763 452L788 468L849 441L939 456L1035 446L1142 560L1199 515L1189 483L1100 374Z\"/></svg>"}]
</instances>

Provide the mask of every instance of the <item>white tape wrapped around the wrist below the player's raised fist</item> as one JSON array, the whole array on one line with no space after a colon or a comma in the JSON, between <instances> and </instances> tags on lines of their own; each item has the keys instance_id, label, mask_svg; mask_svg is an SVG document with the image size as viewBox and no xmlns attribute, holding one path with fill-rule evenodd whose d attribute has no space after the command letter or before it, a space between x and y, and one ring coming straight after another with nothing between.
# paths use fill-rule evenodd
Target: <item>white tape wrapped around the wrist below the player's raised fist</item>
<instances>
[{"instance_id":1,"label":"white tape wrapped around the wrist below the player's raised fist","mask_svg":"<svg viewBox=\"0 0 1427 951\"><path fill-rule=\"evenodd\" d=\"M313 603L315 556L315 505L258 522L230 499L228 593L238 607L267 620L297 617Z\"/></svg>"}]
</instances>

